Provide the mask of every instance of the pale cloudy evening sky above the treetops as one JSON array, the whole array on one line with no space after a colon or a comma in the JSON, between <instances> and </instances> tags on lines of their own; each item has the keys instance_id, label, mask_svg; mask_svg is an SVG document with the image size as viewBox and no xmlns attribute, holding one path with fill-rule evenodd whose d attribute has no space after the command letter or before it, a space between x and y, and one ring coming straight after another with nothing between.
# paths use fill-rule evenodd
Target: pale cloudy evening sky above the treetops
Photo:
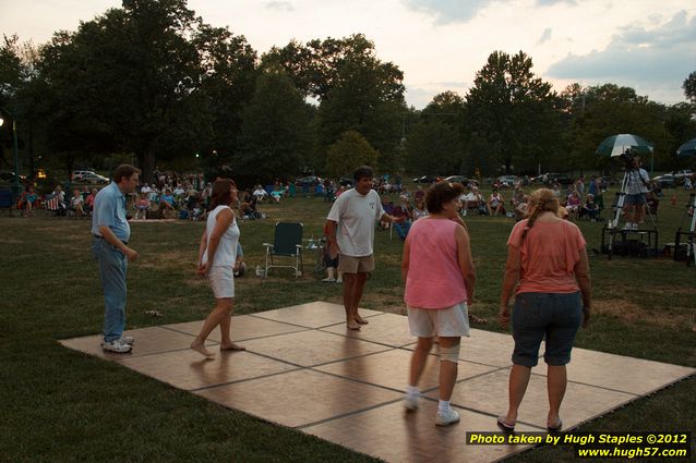
<instances>
[{"instance_id":1,"label":"pale cloudy evening sky above the treetops","mask_svg":"<svg viewBox=\"0 0 696 463\"><path fill-rule=\"evenodd\" d=\"M521 50L561 92L613 83L664 103L684 101L696 71L694 0L189 0L214 26L259 52L364 34L377 57L404 71L406 100L423 108L439 93L466 96L489 54ZM76 31L118 0L0 0L0 33L40 45Z\"/></svg>"}]
</instances>

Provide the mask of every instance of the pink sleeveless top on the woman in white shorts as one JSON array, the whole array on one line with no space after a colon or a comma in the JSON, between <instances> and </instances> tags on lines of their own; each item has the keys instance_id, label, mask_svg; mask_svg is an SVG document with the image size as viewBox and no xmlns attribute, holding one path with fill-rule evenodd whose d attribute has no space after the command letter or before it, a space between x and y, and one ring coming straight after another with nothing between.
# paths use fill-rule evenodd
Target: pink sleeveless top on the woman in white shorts
<instances>
[{"instance_id":1,"label":"pink sleeveless top on the woman in white shorts","mask_svg":"<svg viewBox=\"0 0 696 463\"><path fill-rule=\"evenodd\" d=\"M452 220L419 219L408 232L410 259L404 301L410 307L448 308L467 302Z\"/></svg>"}]
</instances>

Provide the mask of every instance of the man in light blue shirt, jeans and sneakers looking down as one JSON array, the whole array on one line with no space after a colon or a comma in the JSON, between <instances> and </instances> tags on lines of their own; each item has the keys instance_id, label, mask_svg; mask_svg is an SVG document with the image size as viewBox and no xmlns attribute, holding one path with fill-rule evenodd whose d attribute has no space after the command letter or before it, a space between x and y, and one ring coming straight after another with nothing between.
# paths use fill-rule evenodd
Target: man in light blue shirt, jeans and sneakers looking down
<instances>
[{"instance_id":1,"label":"man in light blue shirt, jeans and sneakers looking down","mask_svg":"<svg viewBox=\"0 0 696 463\"><path fill-rule=\"evenodd\" d=\"M128 247L131 227L125 218L125 195L137 187L140 170L119 166L113 181L94 199L92 216L92 251L99 268L104 289L104 342L101 349L123 354L131 351L133 338L123 336L125 328L125 270L137 253Z\"/></svg>"}]
</instances>

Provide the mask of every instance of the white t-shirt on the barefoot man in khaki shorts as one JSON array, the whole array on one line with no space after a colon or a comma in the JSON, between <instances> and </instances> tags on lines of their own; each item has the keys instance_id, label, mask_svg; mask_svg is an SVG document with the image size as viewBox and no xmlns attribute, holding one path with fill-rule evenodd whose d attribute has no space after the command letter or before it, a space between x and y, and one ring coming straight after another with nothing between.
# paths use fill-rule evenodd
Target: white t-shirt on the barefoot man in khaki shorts
<instances>
[{"instance_id":1,"label":"white t-shirt on the barefoot man in khaki shorts","mask_svg":"<svg viewBox=\"0 0 696 463\"><path fill-rule=\"evenodd\" d=\"M363 196L356 188L350 188L338 196L327 219L338 223L336 240L340 254L352 257L372 255L374 222L382 216L384 209L374 190Z\"/></svg>"}]
</instances>

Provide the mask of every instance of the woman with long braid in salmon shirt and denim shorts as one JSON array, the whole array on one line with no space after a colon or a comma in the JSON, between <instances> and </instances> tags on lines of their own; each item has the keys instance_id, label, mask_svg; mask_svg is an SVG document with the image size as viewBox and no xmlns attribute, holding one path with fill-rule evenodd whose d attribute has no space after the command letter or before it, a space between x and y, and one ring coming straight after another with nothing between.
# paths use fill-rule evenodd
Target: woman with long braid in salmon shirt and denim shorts
<instances>
[{"instance_id":1,"label":"woman with long braid in salmon shirt and denim shorts","mask_svg":"<svg viewBox=\"0 0 696 463\"><path fill-rule=\"evenodd\" d=\"M563 427L559 410L567 383L565 365L571 362L575 336L590 317L591 284L585 239L572 222L556 216L559 199L552 191L537 190L529 199L529 218L511 233L501 294L499 320L511 319L507 304L515 291L512 315L513 368L509 374L509 407L497 418L506 431L515 428L517 410L525 397L539 346L545 338L549 415L547 428Z\"/></svg>"}]
</instances>

